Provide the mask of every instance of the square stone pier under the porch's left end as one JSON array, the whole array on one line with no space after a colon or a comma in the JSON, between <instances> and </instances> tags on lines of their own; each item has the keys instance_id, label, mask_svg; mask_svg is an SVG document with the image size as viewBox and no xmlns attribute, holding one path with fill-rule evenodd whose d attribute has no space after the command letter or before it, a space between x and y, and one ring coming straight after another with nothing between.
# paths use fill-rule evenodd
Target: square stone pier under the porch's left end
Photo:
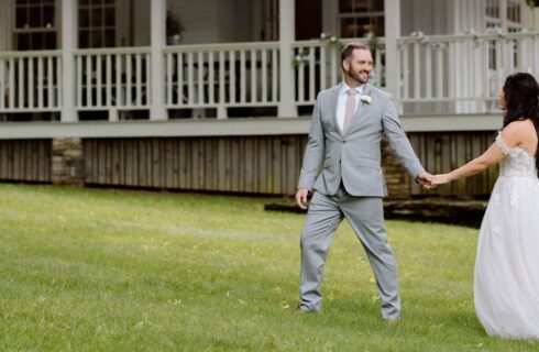
<instances>
[{"instance_id":1,"label":"square stone pier under the porch's left end","mask_svg":"<svg viewBox=\"0 0 539 352\"><path fill-rule=\"evenodd\" d=\"M53 139L52 180L54 185L85 185L85 153L81 139Z\"/></svg>"}]
</instances>

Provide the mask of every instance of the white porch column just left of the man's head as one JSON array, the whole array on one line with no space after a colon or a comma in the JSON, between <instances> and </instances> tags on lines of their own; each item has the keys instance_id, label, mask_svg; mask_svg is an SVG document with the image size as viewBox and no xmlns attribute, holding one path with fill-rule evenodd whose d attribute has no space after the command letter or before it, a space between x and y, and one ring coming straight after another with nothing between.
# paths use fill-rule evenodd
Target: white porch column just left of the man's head
<instances>
[{"instance_id":1,"label":"white porch column just left of the man's head","mask_svg":"<svg viewBox=\"0 0 539 352\"><path fill-rule=\"evenodd\" d=\"M279 0L279 118L297 117L295 101L294 52L292 43L296 40L295 0Z\"/></svg>"}]
</instances>

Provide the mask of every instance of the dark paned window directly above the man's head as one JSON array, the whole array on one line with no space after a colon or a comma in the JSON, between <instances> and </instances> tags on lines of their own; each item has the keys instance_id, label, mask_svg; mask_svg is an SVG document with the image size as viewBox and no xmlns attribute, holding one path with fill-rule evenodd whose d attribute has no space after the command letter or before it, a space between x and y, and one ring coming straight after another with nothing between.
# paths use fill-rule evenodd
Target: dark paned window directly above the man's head
<instances>
[{"instance_id":1,"label":"dark paned window directly above the man's head","mask_svg":"<svg viewBox=\"0 0 539 352\"><path fill-rule=\"evenodd\" d=\"M341 37L384 36L384 0L339 0Z\"/></svg>"}]
</instances>

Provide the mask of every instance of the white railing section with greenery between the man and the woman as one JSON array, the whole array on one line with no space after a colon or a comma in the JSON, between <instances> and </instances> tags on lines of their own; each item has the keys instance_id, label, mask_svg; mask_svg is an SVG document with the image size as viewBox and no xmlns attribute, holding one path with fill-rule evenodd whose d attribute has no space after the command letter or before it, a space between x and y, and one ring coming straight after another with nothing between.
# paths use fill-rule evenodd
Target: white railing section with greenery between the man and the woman
<instances>
[{"instance_id":1,"label":"white railing section with greenery between the man and the woman","mask_svg":"<svg viewBox=\"0 0 539 352\"><path fill-rule=\"evenodd\" d=\"M400 97L408 110L442 113L496 112L505 78L527 72L539 77L538 33L463 34L398 41ZM443 103L443 105L442 105Z\"/></svg>"}]
</instances>

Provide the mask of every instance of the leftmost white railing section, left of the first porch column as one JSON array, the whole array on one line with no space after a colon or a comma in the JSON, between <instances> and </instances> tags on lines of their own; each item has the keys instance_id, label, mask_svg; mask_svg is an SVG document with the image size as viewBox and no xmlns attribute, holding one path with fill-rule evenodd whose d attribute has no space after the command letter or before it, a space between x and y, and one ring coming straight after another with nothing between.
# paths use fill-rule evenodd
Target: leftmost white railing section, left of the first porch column
<instances>
[{"instance_id":1,"label":"leftmost white railing section, left of the first porch column","mask_svg":"<svg viewBox=\"0 0 539 352\"><path fill-rule=\"evenodd\" d=\"M59 111L58 51L0 53L0 112Z\"/></svg>"}]
</instances>

